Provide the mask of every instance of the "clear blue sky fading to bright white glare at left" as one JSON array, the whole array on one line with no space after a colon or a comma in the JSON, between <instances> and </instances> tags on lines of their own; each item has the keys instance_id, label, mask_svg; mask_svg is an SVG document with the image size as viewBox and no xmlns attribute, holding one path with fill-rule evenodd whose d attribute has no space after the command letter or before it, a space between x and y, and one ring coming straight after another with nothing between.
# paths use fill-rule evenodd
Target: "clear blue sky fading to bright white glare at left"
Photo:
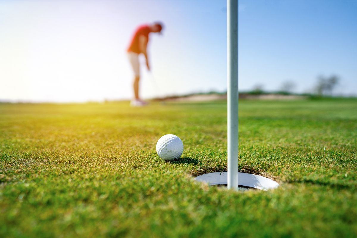
<instances>
[{"instance_id":1,"label":"clear blue sky fading to bright white glare at left","mask_svg":"<svg viewBox=\"0 0 357 238\"><path fill-rule=\"evenodd\" d=\"M337 74L357 94L357 0L239 1L239 87L311 91ZM144 97L226 90L225 0L0 0L0 100L84 102L132 97L126 48L151 34Z\"/></svg>"}]
</instances>

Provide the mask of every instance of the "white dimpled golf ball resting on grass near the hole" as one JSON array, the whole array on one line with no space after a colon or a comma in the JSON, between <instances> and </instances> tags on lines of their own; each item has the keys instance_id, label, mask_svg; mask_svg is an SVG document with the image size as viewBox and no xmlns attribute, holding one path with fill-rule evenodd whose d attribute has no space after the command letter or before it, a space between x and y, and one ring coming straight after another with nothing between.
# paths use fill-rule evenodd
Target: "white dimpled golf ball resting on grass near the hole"
<instances>
[{"instance_id":1,"label":"white dimpled golf ball resting on grass near the hole","mask_svg":"<svg viewBox=\"0 0 357 238\"><path fill-rule=\"evenodd\" d=\"M160 158L169 161L179 158L183 152L183 143L175 135L165 135L157 141L156 152Z\"/></svg>"}]
</instances>

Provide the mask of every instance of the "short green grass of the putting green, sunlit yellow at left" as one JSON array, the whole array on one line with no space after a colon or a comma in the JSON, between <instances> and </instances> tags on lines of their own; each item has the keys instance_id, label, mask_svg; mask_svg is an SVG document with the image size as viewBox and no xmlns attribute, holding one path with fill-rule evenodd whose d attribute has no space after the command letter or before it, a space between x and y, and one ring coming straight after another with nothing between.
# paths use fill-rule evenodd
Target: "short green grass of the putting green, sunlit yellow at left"
<instances>
[{"instance_id":1,"label":"short green grass of the putting green, sunlit yellow at left","mask_svg":"<svg viewBox=\"0 0 357 238\"><path fill-rule=\"evenodd\" d=\"M194 182L226 171L226 102L0 104L0 237L356 237L357 100L240 101L239 168L281 186ZM157 140L179 136L165 162Z\"/></svg>"}]
</instances>

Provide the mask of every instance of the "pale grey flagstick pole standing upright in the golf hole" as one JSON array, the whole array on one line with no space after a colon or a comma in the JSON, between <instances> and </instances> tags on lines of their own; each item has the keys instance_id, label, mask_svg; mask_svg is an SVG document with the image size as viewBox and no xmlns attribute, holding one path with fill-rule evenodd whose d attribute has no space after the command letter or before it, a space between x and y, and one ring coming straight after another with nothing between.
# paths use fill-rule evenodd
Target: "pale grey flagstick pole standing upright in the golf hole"
<instances>
[{"instance_id":1,"label":"pale grey flagstick pole standing upright in the golf hole","mask_svg":"<svg viewBox=\"0 0 357 238\"><path fill-rule=\"evenodd\" d=\"M227 187L238 189L238 0L227 0Z\"/></svg>"}]
</instances>

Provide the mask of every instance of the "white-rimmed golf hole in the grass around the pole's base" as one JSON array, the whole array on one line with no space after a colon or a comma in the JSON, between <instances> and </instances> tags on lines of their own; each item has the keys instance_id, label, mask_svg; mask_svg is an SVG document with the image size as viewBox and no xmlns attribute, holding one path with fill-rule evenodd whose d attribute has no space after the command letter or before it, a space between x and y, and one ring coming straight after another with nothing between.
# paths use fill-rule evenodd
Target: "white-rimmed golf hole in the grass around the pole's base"
<instances>
[{"instance_id":1,"label":"white-rimmed golf hole in the grass around the pole's base","mask_svg":"<svg viewBox=\"0 0 357 238\"><path fill-rule=\"evenodd\" d=\"M227 185L227 172L206 173L195 178L196 181L208 183L210 186ZM277 188L279 184L270 178L250 173L238 173L238 190L247 191L251 188L267 191Z\"/></svg>"}]
</instances>

